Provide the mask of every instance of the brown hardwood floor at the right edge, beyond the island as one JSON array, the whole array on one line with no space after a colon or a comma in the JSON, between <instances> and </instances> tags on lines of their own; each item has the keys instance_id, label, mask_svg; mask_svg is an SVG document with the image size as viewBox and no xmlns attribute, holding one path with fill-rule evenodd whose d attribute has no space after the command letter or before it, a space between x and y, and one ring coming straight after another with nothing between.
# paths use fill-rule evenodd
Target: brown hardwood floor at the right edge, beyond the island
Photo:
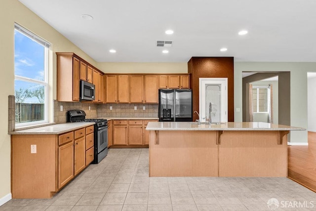
<instances>
[{"instance_id":1,"label":"brown hardwood floor at the right edge, beyond the island","mask_svg":"<svg viewBox=\"0 0 316 211\"><path fill-rule=\"evenodd\" d=\"M288 177L316 192L316 132L308 146L288 146Z\"/></svg>"}]
</instances>

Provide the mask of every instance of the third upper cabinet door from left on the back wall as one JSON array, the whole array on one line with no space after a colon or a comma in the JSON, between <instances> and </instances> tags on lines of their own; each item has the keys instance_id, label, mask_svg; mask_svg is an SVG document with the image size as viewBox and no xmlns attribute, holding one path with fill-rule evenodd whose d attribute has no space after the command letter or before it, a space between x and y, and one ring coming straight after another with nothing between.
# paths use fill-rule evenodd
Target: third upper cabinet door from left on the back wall
<instances>
[{"instance_id":1,"label":"third upper cabinet door from left on the back wall","mask_svg":"<svg viewBox=\"0 0 316 211\"><path fill-rule=\"evenodd\" d=\"M144 76L130 76L129 82L129 101L131 103L143 103Z\"/></svg>"}]
</instances>

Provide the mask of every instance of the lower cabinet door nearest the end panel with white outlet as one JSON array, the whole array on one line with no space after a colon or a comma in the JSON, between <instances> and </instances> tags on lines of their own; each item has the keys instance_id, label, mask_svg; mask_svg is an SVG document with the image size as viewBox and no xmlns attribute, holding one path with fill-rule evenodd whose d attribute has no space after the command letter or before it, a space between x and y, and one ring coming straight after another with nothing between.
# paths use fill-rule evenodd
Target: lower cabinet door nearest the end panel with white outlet
<instances>
[{"instance_id":1,"label":"lower cabinet door nearest the end panel with white outlet","mask_svg":"<svg viewBox=\"0 0 316 211\"><path fill-rule=\"evenodd\" d=\"M58 147L58 189L74 178L74 142Z\"/></svg>"}]
</instances>

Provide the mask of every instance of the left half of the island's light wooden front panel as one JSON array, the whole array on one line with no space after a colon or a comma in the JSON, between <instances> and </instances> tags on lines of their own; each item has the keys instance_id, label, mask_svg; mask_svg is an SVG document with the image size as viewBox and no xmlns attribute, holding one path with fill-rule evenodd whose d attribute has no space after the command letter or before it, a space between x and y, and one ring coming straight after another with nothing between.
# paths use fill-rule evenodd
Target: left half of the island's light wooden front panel
<instances>
[{"instance_id":1,"label":"left half of the island's light wooden front panel","mask_svg":"<svg viewBox=\"0 0 316 211\"><path fill-rule=\"evenodd\" d=\"M150 131L150 176L218 176L216 131Z\"/></svg>"}]
</instances>

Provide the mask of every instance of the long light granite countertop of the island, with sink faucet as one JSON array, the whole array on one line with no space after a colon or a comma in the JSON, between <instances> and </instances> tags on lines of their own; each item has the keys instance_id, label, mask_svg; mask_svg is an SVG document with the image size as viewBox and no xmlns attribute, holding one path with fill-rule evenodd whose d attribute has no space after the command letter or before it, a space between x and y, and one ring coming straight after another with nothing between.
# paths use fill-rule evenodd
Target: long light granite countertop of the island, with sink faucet
<instances>
[{"instance_id":1,"label":"long light granite countertop of the island, with sink faucet","mask_svg":"<svg viewBox=\"0 0 316 211\"><path fill-rule=\"evenodd\" d=\"M306 128L261 122L228 122L220 125L198 125L197 122L150 122L146 130L306 130Z\"/></svg>"}]
</instances>

